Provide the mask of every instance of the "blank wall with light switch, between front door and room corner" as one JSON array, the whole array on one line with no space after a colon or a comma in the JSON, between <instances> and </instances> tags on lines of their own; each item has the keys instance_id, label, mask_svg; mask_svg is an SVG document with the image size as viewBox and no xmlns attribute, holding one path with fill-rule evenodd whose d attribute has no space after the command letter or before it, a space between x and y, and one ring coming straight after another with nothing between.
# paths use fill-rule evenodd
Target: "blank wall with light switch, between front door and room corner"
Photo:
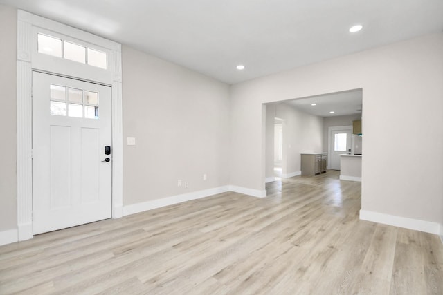
<instances>
[{"instance_id":1,"label":"blank wall with light switch, between front door and room corner","mask_svg":"<svg viewBox=\"0 0 443 295\"><path fill-rule=\"evenodd\" d=\"M228 84L128 46L122 53L123 204L228 184Z\"/></svg>"}]
</instances>

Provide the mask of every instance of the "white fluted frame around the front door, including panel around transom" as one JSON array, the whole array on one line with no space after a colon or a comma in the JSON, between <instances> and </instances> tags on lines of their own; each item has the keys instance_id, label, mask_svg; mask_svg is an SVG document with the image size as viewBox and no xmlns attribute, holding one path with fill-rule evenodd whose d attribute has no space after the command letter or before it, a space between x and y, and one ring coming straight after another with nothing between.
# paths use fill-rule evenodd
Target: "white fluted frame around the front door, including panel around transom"
<instances>
[{"instance_id":1,"label":"white fluted frame around the front door, including panel around transom","mask_svg":"<svg viewBox=\"0 0 443 295\"><path fill-rule=\"evenodd\" d=\"M37 53L36 30L48 30L107 52L107 70L72 64L63 59L42 62ZM51 57L52 58L52 57ZM66 66L64 66L66 64ZM69 66L71 65L72 66ZM62 70L60 70L62 69ZM88 32L17 11L17 229L18 240L33 238L32 72L77 77L112 88L112 217L123 216L123 126L121 45Z\"/></svg>"}]
</instances>

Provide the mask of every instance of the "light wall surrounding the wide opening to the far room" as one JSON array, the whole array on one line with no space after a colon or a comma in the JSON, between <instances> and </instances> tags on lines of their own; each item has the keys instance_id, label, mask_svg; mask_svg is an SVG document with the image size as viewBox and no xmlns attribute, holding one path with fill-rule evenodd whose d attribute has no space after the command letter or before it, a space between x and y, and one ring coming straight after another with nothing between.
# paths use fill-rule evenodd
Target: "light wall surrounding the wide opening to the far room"
<instances>
[{"instance_id":1,"label":"light wall surrounding the wide opening to the far room","mask_svg":"<svg viewBox=\"0 0 443 295\"><path fill-rule=\"evenodd\" d=\"M264 189L262 104L363 88L362 209L441 222L442 81L439 33L235 84L230 182Z\"/></svg>"}]
</instances>

